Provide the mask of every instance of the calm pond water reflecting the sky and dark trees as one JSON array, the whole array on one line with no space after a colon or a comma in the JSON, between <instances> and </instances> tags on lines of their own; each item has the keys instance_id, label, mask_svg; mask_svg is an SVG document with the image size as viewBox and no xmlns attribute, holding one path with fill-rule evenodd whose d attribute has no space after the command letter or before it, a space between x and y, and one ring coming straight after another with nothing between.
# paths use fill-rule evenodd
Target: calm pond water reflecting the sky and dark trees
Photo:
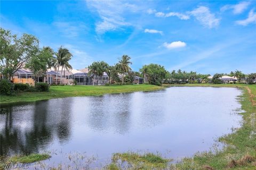
<instances>
[{"instance_id":1,"label":"calm pond water reflecting the sky and dark trees","mask_svg":"<svg viewBox=\"0 0 256 170\"><path fill-rule=\"evenodd\" d=\"M239 127L240 94L236 88L171 87L2 105L1 155L58 150L105 160L140 150L191 156Z\"/></svg>"}]
</instances>

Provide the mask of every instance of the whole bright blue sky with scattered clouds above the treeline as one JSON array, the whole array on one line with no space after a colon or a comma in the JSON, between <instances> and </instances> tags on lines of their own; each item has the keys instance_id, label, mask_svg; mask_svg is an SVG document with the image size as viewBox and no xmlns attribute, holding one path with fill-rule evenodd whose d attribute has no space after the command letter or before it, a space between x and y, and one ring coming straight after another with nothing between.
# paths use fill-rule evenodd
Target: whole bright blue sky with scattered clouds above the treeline
<instances>
[{"instance_id":1,"label":"whole bright blue sky with scattered clouds above the treeline","mask_svg":"<svg viewBox=\"0 0 256 170\"><path fill-rule=\"evenodd\" d=\"M134 71L256 71L256 1L1 1L1 27L67 47L75 69L126 54Z\"/></svg>"}]
</instances>

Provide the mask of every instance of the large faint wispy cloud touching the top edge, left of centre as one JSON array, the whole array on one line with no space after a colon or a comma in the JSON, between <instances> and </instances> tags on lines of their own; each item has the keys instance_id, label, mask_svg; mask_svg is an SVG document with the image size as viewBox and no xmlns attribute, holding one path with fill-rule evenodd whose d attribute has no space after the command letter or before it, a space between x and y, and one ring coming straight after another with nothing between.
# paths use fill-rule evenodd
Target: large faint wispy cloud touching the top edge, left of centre
<instances>
[{"instance_id":1,"label":"large faint wispy cloud touching the top edge, left of centre","mask_svg":"<svg viewBox=\"0 0 256 170\"><path fill-rule=\"evenodd\" d=\"M131 25L131 23L125 21L123 15L127 11L135 12L138 10L138 7L134 4L118 1L87 1L87 6L91 10L96 10L102 20L96 23L95 31L98 34Z\"/></svg>"}]
</instances>

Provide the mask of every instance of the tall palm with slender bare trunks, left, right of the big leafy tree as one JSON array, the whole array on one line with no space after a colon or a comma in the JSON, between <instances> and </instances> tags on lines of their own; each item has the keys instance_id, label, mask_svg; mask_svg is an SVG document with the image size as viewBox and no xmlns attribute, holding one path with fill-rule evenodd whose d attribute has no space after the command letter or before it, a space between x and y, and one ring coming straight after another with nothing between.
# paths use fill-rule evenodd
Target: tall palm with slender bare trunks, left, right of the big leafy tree
<instances>
[{"instance_id":1,"label":"tall palm with slender bare trunks, left, right of the big leafy tree","mask_svg":"<svg viewBox=\"0 0 256 170\"><path fill-rule=\"evenodd\" d=\"M67 48L63 48L62 46L60 46L60 48L58 49L58 52L55 53L55 55L57 56L56 58L57 62L55 63L55 67L58 67L57 74L56 74L56 84L58 80L58 73L59 73L60 67L61 67L61 78L60 78L60 84L61 84L63 68L67 68L68 70L72 69L72 66L68 63L68 61L71 59L73 55L69 52Z\"/></svg>"}]
</instances>

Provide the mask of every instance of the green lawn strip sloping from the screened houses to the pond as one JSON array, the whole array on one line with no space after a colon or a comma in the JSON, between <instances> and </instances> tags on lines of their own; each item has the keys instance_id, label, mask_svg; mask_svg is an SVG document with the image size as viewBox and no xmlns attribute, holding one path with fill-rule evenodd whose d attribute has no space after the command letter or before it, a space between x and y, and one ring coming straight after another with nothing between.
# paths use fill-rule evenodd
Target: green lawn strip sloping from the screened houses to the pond
<instances>
[{"instance_id":1,"label":"green lawn strip sloping from the screened houses to the pond","mask_svg":"<svg viewBox=\"0 0 256 170\"><path fill-rule=\"evenodd\" d=\"M149 84L135 84L123 86L51 86L49 92L21 92L13 96L1 95L0 103L4 104L75 96L98 96L103 94L149 91L163 88L164 87L153 86Z\"/></svg>"}]
</instances>

